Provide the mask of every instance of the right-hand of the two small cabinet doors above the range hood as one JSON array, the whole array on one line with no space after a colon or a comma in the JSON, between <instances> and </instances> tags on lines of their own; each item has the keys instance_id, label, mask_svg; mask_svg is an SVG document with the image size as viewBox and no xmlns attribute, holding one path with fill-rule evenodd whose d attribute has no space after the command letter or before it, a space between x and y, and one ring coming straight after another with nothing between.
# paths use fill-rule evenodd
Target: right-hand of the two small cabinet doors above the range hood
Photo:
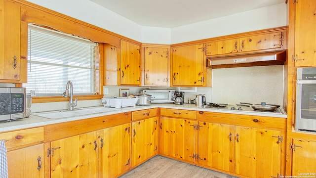
<instances>
[{"instance_id":1,"label":"right-hand of the two small cabinet doors above the range hood","mask_svg":"<svg viewBox=\"0 0 316 178\"><path fill-rule=\"evenodd\" d=\"M282 49L282 32L240 38L240 51Z\"/></svg>"}]
</instances>

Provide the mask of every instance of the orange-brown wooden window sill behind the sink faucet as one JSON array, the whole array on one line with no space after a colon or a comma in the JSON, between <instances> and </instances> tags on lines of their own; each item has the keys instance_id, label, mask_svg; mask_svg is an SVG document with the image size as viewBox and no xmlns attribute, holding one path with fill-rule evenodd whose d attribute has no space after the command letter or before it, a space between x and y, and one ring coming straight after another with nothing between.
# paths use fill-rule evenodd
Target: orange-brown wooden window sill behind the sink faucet
<instances>
[{"instance_id":1,"label":"orange-brown wooden window sill behind the sink faucet","mask_svg":"<svg viewBox=\"0 0 316 178\"><path fill-rule=\"evenodd\" d=\"M93 99L101 99L103 98L103 94L94 94L94 95L77 95L74 96L78 100L93 100ZM32 97L32 103L46 103L46 102L61 102L61 101L69 101L69 97L63 96L36 96Z\"/></svg>"}]
</instances>

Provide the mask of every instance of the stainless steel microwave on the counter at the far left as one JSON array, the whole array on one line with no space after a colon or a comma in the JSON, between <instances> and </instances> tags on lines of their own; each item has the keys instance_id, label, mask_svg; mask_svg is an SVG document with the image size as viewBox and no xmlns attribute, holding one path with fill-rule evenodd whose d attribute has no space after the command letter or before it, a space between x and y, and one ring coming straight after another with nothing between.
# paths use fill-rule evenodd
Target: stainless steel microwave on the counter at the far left
<instances>
[{"instance_id":1,"label":"stainless steel microwave on the counter at the far left","mask_svg":"<svg viewBox=\"0 0 316 178\"><path fill-rule=\"evenodd\" d=\"M25 118L25 102L25 88L0 88L0 121Z\"/></svg>"}]
</instances>

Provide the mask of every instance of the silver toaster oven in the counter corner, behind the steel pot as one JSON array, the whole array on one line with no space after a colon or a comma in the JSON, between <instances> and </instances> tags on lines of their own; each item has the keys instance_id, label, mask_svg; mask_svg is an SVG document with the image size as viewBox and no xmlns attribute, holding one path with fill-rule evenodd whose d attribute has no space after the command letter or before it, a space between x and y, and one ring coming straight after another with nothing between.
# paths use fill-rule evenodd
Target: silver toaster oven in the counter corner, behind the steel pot
<instances>
[{"instance_id":1,"label":"silver toaster oven in the counter corner, behind the steel pot","mask_svg":"<svg viewBox=\"0 0 316 178\"><path fill-rule=\"evenodd\" d=\"M143 93L152 95L151 103L173 103L176 98L174 89L144 89Z\"/></svg>"}]
</instances>

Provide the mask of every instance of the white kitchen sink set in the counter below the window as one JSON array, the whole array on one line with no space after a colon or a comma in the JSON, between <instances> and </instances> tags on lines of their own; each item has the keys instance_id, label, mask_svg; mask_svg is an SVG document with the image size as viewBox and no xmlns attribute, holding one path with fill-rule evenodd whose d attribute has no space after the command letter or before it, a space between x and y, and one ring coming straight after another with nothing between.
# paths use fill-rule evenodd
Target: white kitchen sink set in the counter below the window
<instances>
[{"instance_id":1,"label":"white kitchen sink set in the counter below the window","mask_svg":"<svg viewBox=\"0 0 316 178\"><path fill-rule=\"evenodd\" d=\"M39 113L32 113L32 115L40 116L40 117L44 117L48 119L61 119L61 118L83 116L83 115L111 112L111 111L118 111L118 110L120 109L97 106L97 107L88 107L88 108L77 108L73 111L58 110L58 111L39 112Z\"/></svg>"}]
</instances>

